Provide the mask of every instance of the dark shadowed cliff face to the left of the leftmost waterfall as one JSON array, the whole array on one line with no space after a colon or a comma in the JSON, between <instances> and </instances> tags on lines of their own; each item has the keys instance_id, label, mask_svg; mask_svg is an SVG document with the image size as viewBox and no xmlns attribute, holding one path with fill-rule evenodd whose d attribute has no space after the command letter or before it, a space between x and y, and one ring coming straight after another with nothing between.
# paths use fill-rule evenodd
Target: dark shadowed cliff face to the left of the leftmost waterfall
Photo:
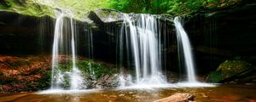
<instances>
[{"instance_id":1,"label":"dark shadowed cliff face to the left of the leftmost waterfall","mask_svg":"<svg viewBox=\"0 0 256 102\"><path fill-rule=\"evenodd\" d=\"M2 11L0 31L0 54L40 54L50 45L54 20Z\"/></svg>"}]
</instances>

